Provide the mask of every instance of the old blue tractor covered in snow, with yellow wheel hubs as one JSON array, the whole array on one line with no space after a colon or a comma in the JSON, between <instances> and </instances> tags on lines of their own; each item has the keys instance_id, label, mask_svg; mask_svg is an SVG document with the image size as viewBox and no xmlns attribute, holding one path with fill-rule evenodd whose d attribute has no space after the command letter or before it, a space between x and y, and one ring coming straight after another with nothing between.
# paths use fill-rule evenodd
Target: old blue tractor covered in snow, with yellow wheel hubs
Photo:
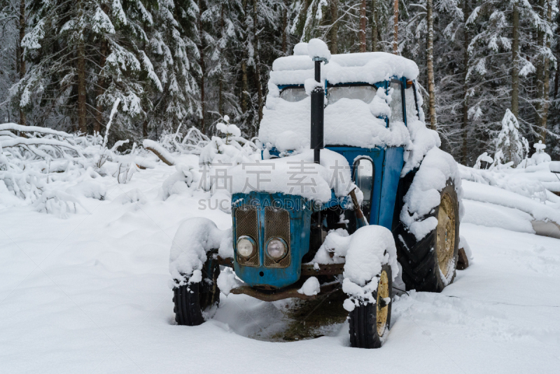
<instances>
[{"instance_id":1,"label":"old blue tractor covered in snow, with yellow wheel hubs","mask_svg":"<svg viewBox=\"0 0 560 374\"><path fill-rule=\"evenodd\" d=\"M232 229L189 219L176 234L178 324L202 324L221 291L274 301L342 288L351 346L375 348L393 282L453 281L461 179L426 128L418 72L388 53L331 56L318 39L274 61L260 160L232 175Z\"/></svg>"}]
</instances>

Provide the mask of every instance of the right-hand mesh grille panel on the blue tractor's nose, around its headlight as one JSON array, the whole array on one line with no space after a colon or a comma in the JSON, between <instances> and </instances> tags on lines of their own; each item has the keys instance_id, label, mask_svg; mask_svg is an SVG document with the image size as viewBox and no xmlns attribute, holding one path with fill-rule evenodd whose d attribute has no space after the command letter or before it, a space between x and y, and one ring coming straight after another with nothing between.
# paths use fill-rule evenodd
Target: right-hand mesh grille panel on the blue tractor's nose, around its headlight
<instances>
[{"instance_id":1,"label":"right-hand mesh grille panel on the blue tractor's nose, around its headlight","mask_svg":"<svg viewBox=\"0 0 560 374\"><path fill-rule=\"evenodd\" d=\"M266 255L267 268L288 268L290 265L290 214L286 209L265 208L265 245L271 237L281 237L288 243L288 254L279 261L274 261Z\"/></svg>"}]
</instances>

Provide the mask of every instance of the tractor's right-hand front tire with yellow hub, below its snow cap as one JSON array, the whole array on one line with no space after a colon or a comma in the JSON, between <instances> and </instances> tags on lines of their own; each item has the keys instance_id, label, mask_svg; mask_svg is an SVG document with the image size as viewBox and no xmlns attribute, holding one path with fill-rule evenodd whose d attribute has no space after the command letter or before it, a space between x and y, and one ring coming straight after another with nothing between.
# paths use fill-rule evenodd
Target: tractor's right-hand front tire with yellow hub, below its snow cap
<instances>
[{"instance_id":1,"label":"tractor's right-hand front tire with yellow hub, below its snow cap","mask_svg":"<svg viewBox=\"0 0 560 374\"><path fill-rule=\"evenodd\" d=\"M355 348L379 348L381 338L391 325L393 277L391 266L383 265L373 297L375 304L359 305L349 313L350 345Z\"/></svg>"}]
</instances>

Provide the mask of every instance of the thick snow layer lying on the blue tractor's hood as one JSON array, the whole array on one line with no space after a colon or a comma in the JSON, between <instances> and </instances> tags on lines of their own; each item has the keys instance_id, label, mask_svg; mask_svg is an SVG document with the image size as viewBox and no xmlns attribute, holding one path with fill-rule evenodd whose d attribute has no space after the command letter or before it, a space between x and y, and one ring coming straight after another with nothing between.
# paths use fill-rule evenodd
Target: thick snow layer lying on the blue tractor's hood
<instances>
[{"instance_id":1,"label":"thick snow layer lying on the blue tractor's hood","mask_svg":"<svg viewBox=\"0 0 560 374\"><path fill-rule=\"evenodd\" d=\"M331 189L337 197L356 187L346 158L328 149L321 150L321 165L313 162L311 149L283 158L244 162L230 170L232 193L262 191L299 195L327 202Z\"/></svg>"}]
</instances>

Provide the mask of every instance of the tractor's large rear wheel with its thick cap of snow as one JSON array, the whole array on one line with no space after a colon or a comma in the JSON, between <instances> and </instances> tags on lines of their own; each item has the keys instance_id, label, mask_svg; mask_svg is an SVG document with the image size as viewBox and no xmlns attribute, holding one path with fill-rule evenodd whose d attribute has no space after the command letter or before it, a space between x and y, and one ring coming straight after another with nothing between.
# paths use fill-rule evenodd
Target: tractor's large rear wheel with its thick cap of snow
<instances>
[{"instance_id":1,"label":"tractor's large rear wheel with its thick cap of snow","mask_svg":"<svg viewBox=\"0 0 560 374\"><path fill-rule=\"evenodd\" d=\"M449 153L432 148L412 181L409 176L400 180L405 195L393 224L402 281L407 289L440 292L453 282L457 265L461 173Z\"/></svg>"}]
</instances>

